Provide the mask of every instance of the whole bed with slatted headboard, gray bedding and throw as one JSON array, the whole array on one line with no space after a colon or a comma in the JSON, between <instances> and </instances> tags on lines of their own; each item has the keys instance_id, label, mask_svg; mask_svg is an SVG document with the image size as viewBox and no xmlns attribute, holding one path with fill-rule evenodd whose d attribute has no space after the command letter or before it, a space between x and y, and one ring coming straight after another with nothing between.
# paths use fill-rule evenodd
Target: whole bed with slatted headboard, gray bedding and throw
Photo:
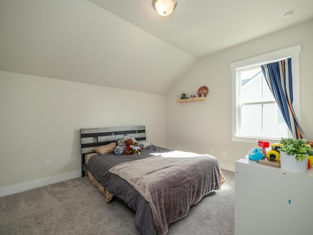
<instances>
[{"instance_id":1,"label":"whole bed with slatted headboard, gray bedding and throw","mask_svg":"<svg viewBox=\"0 0 313 235\"><path fill-rule=\"evenodd\" d=\"M141 153L116 155L120 140L128 138L140 143ZM216 158L156 146L146 140L145 126L81 129L81 153L82 176L106 202L116 197L134 212L140 235L165 235L224 182Z\"/></svg>"}]
</instances>

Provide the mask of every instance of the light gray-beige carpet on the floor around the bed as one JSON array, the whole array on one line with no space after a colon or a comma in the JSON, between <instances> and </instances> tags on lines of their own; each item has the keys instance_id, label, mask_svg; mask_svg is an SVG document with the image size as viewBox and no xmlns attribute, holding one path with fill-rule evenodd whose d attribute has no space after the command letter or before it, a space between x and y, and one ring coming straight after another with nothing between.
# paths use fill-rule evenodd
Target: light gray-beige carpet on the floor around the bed
<instances>
[{"instance_id":1,"label":"light gray-beige carpet on the floor around the bed","mask_svg":"<svg viewBox=\"0 0 313 235\"><path fill-rule=\"evenodd\" d=\"M235 173L169 226L167 235L234 235ZM105 202L88 177L0 197L0 235L138 235L134 214Z\"/></svg>"}]
</instances>

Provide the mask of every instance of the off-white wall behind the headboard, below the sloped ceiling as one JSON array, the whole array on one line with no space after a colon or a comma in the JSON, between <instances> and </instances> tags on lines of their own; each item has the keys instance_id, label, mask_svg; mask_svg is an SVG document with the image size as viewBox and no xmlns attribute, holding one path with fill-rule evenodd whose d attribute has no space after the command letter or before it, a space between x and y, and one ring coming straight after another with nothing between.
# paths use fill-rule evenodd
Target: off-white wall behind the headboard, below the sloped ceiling
<instances>
[{"instance_id":1,"label":"off-white wall behind the headboard, below the sloped ceiling","mask_svg":"<svg viewBox=\"0 0 313 235\"><path fill-rule=\"evenodd\" d=\"M0 71L0 188L78 177L80 128L137 124L165 146L165 96Z\"/></svg>"}]
</instances>

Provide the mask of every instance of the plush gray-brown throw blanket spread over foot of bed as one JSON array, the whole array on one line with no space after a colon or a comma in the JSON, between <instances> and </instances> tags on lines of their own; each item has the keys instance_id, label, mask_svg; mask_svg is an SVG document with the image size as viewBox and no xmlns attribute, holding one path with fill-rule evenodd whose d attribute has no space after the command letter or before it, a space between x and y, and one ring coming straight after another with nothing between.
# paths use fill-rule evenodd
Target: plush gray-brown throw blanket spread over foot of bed
<instances>
[{"instance_id":1,"label":"plush gray-brown throw blanket spread over foot of bed","mask_svg":"<svg viewBox=\"0 0 313 235\"><path fill-rule=\"evenodd\" d=\"M180 151L121 163L109 171L132 185L149 203L158 234L185 217L192 205L221 187L219 163L211 156ZM176 157L175 157L176 156Z\"/></svg>"}]
</instances>

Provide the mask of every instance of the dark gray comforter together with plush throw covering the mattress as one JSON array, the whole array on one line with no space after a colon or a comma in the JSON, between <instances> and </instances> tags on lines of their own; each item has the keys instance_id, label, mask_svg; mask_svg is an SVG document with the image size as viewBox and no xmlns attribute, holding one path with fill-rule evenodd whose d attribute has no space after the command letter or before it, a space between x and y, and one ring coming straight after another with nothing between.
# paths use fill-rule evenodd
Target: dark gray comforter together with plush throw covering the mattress
<instances>
[{"instance_id":1,"label":"dark gray comforter together with plush throw covering the mattress","mask_svg":"<svg viewBox=\"0 0 313 235\"><path fill-rule=\"evenodd\" d=\"M166 152L169 156L159 157L160 153ZM87 168L95 179L136 211L135 226L141 235L166 234L168 225L186 216L191 205L198 203L211 190L221 188L219 163L214 157L198 155L189 158L185 155L181 167L181 163L174 163L176 160L171 156L174 152L149 146L140 155L106 154L89 159ZM163 166L152 169L150 166L156 162L163 162ZM172 165L165 166L165 162ZM113 174L109 170L119 173ZM138 172L143 174L140 176ZM150 183L141 184L143 182Z\"/></svg>"}]
</instances>

